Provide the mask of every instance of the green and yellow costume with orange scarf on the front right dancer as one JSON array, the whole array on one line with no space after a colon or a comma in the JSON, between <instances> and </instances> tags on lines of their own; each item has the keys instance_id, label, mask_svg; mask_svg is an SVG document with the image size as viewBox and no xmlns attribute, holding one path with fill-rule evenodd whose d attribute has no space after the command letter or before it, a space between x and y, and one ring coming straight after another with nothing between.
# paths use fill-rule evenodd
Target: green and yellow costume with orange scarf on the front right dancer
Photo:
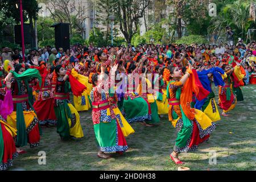
<instances>
[{"instance_id":1,"label":"green and yellow costume with orange scarf on the front right dancer","mask_svg":"<svg viewBox=\"0 0 256 182\"><path fill-rule=\"evenodd\" d=\"M193 77L193 73L190 74ZM198 94L198 88L192 82L195 80L188 78L184 86L180 81L171 81L168 84L168 115L177 131L174 151L178 154L197 150L199 144L207 140L216 128L215 123L201 110L191 109L192 90Z\"/></svg>"}]
</instances>

